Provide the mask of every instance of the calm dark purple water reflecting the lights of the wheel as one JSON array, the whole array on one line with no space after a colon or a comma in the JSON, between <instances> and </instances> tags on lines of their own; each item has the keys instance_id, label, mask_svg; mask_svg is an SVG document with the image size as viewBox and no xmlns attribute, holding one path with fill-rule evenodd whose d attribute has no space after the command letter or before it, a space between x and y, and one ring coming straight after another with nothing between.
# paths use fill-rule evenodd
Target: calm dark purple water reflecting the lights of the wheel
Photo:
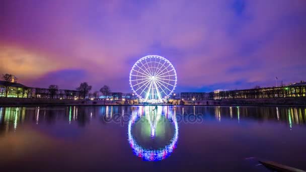
<instances>
[{"instance_id":1,"label":"calm dark purple water reflecting the lights of the wheel","mask_svg":"<svg viewBox=\"0 0 306 172\"><path fill-rule=\"evenodd\" d=\"M305 170L305 124L304 107L0 107L0 170Z\"/></svg>"}]
</instances>

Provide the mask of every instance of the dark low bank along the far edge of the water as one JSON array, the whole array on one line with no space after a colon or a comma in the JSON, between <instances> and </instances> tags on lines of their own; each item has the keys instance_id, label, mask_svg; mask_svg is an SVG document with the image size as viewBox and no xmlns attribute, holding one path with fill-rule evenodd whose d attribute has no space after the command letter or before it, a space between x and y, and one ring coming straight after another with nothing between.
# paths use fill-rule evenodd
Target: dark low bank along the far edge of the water
<instances>
[{"instance_id":1,"label":"dark low bank along the far edge of the water","mask_svg":"<svg viewBox=\"0 0 306 172\"><path fill-rule=\"evenodd\" d=\"M178 104L159 104L160 106L178 106ZM267 99L224 99L205 101L184 101L185 106L306 106L306 98L267 98ZM156 104L124 104L124 101L73 99L29 99L0 98L0 106L156 106Z\"/></svg>"}]
</instances>

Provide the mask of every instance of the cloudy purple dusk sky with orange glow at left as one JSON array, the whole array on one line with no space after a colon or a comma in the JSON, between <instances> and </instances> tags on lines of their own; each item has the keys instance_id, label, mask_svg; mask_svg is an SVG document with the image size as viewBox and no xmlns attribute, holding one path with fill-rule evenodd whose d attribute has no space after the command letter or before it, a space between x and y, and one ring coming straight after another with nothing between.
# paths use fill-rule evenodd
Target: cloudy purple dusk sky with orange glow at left
<instances>
[{"instance_id":1,"label":"cloudy purple dusk sky with orange glow at left","mask_svg":"<svg viewBox=\"0 0 306 172\"><path fill-rule=\"evenodd\" d=\"M0 73L29 87L129 93L151 54L176 68L175 92L306 80L306 1L0 1Z\"/></svg>"}]
</instances>

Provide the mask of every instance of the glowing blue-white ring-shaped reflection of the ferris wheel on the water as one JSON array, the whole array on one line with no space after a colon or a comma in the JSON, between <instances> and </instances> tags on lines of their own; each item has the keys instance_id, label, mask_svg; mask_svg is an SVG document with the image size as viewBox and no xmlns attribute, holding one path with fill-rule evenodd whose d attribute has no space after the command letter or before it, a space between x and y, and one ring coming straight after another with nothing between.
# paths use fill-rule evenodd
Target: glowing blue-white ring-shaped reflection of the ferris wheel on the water
<instances>
[{"instance_id":1,"label":"glowing blue-white ring-shaped reflection of the ferris wheel on the water","mask_svg":"<svg viewBox=\"0 0 306 172\"><path fill-rule=\"evenodd\" d=\"M144 148L132 134L132 128L135 123L139 120L146 120L149 123L150 128L150 137L154 139L157 135L157 128L159 125L163 124L163 120L165 119L173 125L174 128L174 135L163 147L158 149L153 148ZM141 121L139 121L141 122ZM164 121L165 122L165 121ZM145 161L160 161L168 156L174 151L176 148L176 144L178 141L178 123L176 120L175 111L170 109L169 107L152 107L152 106L145 106L139 107L132 111L132 116L128 122L128 141L129 144L134 152L134 154L138 157L141 157L142 160Z\"/></svg>"}]
</instances>

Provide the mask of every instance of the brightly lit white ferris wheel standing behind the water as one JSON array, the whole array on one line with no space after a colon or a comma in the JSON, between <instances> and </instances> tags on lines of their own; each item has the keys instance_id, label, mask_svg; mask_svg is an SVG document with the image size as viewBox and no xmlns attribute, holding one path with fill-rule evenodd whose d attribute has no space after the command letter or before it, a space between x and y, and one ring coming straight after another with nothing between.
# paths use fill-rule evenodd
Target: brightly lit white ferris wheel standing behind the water
<instances>
[{"instance_id":1,"label":"brightly lit white ferris wheel standing behind the water","mask_svg":"<svg viewBox=\"0 0 306 172\"><path fill-rule=\"evenodd\" d=\"M141 102L161 103L175 90L177 75L169 60L158 55L148 55L133 65L129 82Z\"/></svg>"}]
</instances>

